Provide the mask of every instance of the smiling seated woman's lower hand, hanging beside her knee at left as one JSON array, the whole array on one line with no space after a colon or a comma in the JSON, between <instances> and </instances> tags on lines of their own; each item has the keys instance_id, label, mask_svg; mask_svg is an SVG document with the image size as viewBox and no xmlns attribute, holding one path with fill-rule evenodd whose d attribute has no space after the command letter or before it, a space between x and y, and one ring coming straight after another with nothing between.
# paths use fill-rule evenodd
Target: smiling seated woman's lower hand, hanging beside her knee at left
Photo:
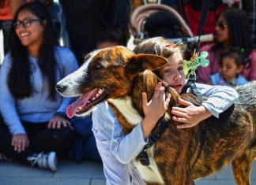
<instances>
[{"instance_id":1,"label":"smiling seated woman's lower hand, hanging beside her knee at left","mask_svg":"<svg viewBox=\"0 0 256 185\"><path fill-rule=\"evenodd\" d=\"M14 151L18 153L24 151L29 145L28 135L26 134L17 134L13 135L12 146Z\"/></svg>"}]
</instances>

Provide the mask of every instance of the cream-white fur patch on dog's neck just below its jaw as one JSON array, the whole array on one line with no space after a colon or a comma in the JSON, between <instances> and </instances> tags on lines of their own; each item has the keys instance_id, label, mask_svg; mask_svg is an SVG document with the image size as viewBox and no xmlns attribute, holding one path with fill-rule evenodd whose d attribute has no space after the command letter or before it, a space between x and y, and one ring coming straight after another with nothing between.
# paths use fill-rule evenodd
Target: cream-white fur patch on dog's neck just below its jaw
<instances>
[{"instance_id":1,"label":"cream-white fur patch on dog's neck just below its jaw","mask_svg":"<svg viewBox=\"0 0 256 185\"><path fill-rule=\"evenodd\" d=\"M119 112L122 113L122 116L126 118L128 123L132 125L137 125L141 123L142 117L137 113L137 110L134 109L130 97L126 98L117 98L117 99L107 99L107 102L111 102Z\"/></svg>"}]
</instances>

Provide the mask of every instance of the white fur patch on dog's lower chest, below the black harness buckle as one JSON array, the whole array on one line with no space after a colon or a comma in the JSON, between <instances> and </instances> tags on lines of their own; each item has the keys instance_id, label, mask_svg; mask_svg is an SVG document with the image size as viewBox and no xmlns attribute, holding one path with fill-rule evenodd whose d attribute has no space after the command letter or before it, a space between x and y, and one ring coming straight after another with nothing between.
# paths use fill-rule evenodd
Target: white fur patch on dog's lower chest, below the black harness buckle
<instances>
[{"instance_id":1,"label":"white fur patch on dog's lower chest, below the black harness buckle","mask_svg":"<svg viewBox=\"0 0 256 185\"><path fill-rule=\"evenodd\" d=\"M152 153L153 150L154 146L146 151L149 156L149 166L142 165L140 161L134 161L134 165L137 167L137 171L140 173L141 178L144 179L146 182L164 184L164 180L162 179L162 176L154 160L154 156Z\"/></svg>"}]
</instances>

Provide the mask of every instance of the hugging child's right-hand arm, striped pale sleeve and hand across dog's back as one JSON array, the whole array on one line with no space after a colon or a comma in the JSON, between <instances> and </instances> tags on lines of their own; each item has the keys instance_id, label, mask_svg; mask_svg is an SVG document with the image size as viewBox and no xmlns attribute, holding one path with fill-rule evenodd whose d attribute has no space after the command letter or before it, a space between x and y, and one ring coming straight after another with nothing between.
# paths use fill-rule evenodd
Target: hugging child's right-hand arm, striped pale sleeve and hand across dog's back
<instances>
[{"instance_id":1,"label":"hugging child's right-hand arm, striped pale sleeve and hand across dog's back","mask_svg":"<svg viewBox=\"0 0 256 185\"><path fill-rule=\"evenodd\" d=\"M228 86L209 86L197 83L198 90L208 99L202 102L201 106L195 106L190 102L186 102L179 98L179 102L186 108L173 107L171 113L174 114L173 120L183 123L178 128L194 127L201 120L205 120L212 115L219 117L228 109L238 98L237 92Z\"/></svg>"}]
</instances>

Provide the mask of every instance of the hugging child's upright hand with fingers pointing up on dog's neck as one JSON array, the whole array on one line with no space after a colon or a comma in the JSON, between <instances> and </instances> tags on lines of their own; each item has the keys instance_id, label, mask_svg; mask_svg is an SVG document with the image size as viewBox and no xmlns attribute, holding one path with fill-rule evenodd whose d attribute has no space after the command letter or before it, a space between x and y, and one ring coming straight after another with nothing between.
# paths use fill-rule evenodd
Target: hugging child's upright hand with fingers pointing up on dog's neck
<instances>
[{"instance_id":1,"label":"hugging child's upright hand with fingers pointing up on dog's neck","mask_svg":"<svg viewBox=\"0 0 256 185\"><path fill-rule=\"evenodd\" d=\"M141 122L143 136L146 138L152 129L156 126L160 117L164 116L168 109L171 94L168 94L168 98L165 99L164 87L162 83L157 83L156 90L152 96L152 99L148 102L147 94L142 94L142 109L144 112L144 119Z\"/></svg>"}]
</instances>

